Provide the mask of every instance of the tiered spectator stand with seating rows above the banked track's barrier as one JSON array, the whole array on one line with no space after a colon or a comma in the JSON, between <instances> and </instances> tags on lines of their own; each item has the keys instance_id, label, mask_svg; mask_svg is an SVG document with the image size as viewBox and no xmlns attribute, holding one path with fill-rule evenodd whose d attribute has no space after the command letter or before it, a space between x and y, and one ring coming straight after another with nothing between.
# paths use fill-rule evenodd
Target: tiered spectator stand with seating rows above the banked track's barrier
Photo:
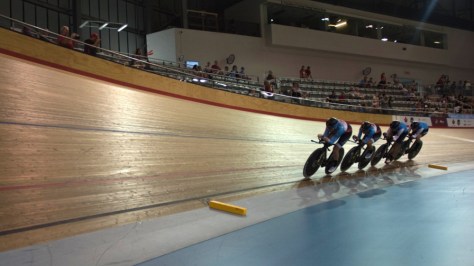
<instances>
[{"instance_id":1,"label":"tiered spectator stand with seating rows above the banked track's barrier","mask_svg":"<svg viewBox=\"0 0 474 266\"><path fill-rule=\"evenodd\" d=\"M3 15L0 15L0 18L9 20L11 25L21 25L21 28L12 26L10 29L18 33L26 34L33 38L39 38L50 43L56 43L55 40L59 36L57 33L41 29L18 20L5 17ZM31 30L26 32L19 30L23 29L23 27L30 28ZM33 32L33 34L29 34L31 32ZM81 47L87 45L78 40L74 41L77 44L77 47L74 50L77 52L81 52ZM383 112L386 114L413 116L427 116L430 115L430 112L436 110L436 107L433 107L435 104L432 104L430 99L425 99L423 102L428 103L428 108L415 108L415 103L420 100L419 95L407 95L406 92L400 88L392 87L390 84L387 84L386 88L384 89L376 87L359 88L358 82L283 77L277 78L276 91L273 93L272 97L268 97L268 95L264 95L262 93L262 84L258 82L258 79L254 80L253 78L240 79L236 77L229 77L229 75L227 75L228 73L223 73L222 75L212 74L211 76L203 77L202 73L186 68L186 66L179 62L160 60L146 56L144 58L137 58L136 55L122 54L115 51L106 50L101 47L97 47L97 49L99 51L97 54L98 58L109 60L124 66L133 67L133 65L130 66L130 62L139 61L141 64L146 65L146 67L140 68L142 71L181 80L183 82L196 83L201 86L253 97L266 98L268 100L275 100L289 104L299 104L355 112ZM303 97L294 97L288 93L285 93L285 91L291 89L293 82L298 82ZM355 88L357 88L357 93L355 93ZM335 91L336 95L344 92L346 94L344 102L328 101L327 98L332 91ZM387 96L392 96L392 108L385 108L382 110L381 108L372 107L372 98L377 92L385 93ZM465 102L463 103L466 104L466 107L464 108L472 112L472 105L469 105Z\"/></svg>"}]
</instances>

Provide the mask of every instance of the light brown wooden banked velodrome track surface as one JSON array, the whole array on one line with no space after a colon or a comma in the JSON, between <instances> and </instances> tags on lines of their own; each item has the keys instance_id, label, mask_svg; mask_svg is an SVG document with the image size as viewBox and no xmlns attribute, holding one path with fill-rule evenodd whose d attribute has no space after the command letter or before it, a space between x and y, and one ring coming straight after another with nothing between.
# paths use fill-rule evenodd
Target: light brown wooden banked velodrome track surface
<instances>
[{"instance_id":1,"label":"light brown wooden banked velodrome track surface","mask_svg":"<svg viewBox=\"0 0 474 266\"><path fill-rule=\"evenodd\" d=\"M296 186L324 129L0 64L0 250ZM472 163L473 132L430 129L414 163Z\"/></svg>"}]
</instances>

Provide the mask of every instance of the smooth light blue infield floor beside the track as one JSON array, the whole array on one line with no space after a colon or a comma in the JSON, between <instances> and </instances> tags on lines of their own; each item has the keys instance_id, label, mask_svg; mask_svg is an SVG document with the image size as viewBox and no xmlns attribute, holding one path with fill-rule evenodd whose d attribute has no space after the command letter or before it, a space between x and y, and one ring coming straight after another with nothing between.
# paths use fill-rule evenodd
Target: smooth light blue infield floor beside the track
<instances>
[{"instance_id":1,"label":"smooth light blue infield floor beside the track","mask_svg":"<svg viewBox=\"0 0 474 266\"><path fill-rule=\"evenodd\" d=\"M474 171L324 202L139 264L474 265Z\"/></svg>"}]
</instances>

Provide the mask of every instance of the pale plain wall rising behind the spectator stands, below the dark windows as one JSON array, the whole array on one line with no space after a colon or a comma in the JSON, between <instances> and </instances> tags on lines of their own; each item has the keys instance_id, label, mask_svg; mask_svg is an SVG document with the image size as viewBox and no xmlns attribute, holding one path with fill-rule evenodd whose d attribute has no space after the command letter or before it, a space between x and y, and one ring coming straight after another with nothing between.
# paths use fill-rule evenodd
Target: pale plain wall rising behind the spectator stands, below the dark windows
<instances>
[{"instance_id":1,"label":"pale plain wall rising behind the spectator stands, below the dark windows","mask_svg":"<svg viewBox=\"0 0 474 266\"><path fill-rule=\"evenodd\" d=\"M297 5L310 4L313 8L347 14L348 16L369 16L373 20L393 23L417 23L388 16L371 14L347 8L324 5L311 1L287 1ZM264 36L262 38L232 35L225 33L203 32L187 29L175 29L180 32L176 43L176 54L164 58L178 60L197 60L204 65L207 61L218 60L221 67L225 59L234 54L234 64L244 66L248 74L260 80L268 70L277 76L297 77L301 65L310 65L313 78L329 80L359 81L362 70L372 68L370 74L378 81L380 74L387 77L397 74L402 79L416 80L423 84L435 83L441 74L447 74L451 80L474 79L474 33L419 24L419 27L447 34L448 49L434 49L401 43L382 42L374 39L354 37L331 32L266 24L265 8L261 1L244 1L241 5L258 10ZM229 10L229 14L232 13ZM254 14L254 12L250 12ZM254 19L253 15L249 15ZM167 30L170 31L170 30ZM149 49L161 44L148 43ZM157 48L152 48L157 47ZM170 53L172 48L168 49ZM157 53L158 57L161 53Z\"/></svg>"}]
</instances>

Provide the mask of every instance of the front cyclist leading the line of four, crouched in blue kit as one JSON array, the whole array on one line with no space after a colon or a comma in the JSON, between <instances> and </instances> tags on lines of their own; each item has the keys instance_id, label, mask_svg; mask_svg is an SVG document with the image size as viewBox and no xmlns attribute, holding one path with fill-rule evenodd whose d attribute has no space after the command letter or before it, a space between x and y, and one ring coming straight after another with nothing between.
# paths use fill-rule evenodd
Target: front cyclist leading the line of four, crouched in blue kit
<instances>
[{"instance_id":1,"label":"front cyclist leading the line of four, crouched in blue kit","mask_svg":"<svg viewBox=\"0 0 474 266\"><path fill-rule=\"evenodd\" d=\"M352 127L344 120L331 117L326 121L324 134L318 134L318 138L326 143L334 144L333 159L339 160L339 150L346 144L352 135ZM337 166L334 166L337 167ZM332 169L333 171L335 169Z\"/></svg>"}]
</instances>

